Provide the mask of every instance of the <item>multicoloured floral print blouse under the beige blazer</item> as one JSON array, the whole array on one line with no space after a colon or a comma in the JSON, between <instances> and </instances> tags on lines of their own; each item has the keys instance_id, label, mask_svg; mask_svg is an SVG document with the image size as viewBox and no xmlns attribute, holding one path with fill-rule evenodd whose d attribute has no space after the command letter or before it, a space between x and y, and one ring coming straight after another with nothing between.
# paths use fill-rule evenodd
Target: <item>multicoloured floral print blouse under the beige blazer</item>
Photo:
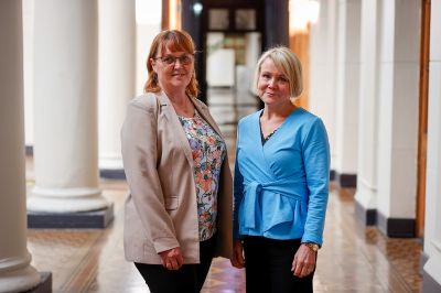
<instances>
[{"instance_id":1,"label":"multicoloured floral print blouse under the beige blazer","mask_svg":"<svg viewBox=\"0 0 441 293\"><path fill-rule=\"evenodd\" d=\"M220 166L226 155L224 140L195 111L193 118L179 116L192 149L196 183L200 241L216 232L217 189Z\"/></svg>"}]
</instances>

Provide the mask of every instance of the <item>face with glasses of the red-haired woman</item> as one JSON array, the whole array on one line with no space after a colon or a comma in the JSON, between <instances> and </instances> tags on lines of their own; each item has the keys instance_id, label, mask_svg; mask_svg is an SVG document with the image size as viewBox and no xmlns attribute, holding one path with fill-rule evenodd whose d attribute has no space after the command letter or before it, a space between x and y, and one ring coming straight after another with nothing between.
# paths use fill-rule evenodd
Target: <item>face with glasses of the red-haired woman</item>
<instances>
[{"instance_id":1,"label":"face with glasses of the red-haired woman","mask_svg":"<svg viewBox=\"0 0 441 293\"><path fill-rule=\"evenodd\" d=\"M160 87L165 90L185 90L194 69L194 56L186 52L165 48L151 59Z\"/></svg>"}]
</instances>

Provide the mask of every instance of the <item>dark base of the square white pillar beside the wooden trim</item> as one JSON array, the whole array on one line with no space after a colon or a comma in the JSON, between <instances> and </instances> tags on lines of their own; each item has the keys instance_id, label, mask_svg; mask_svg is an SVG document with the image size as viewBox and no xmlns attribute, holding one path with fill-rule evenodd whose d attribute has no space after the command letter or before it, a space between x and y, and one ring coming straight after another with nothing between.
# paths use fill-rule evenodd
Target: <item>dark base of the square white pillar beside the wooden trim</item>
<instances>
[{"instance_id":1,"label":"dark base of the square white pillar beside the wooden trim","mask_svg":"<svg viewBox=\"0 0 441 293\"><path fill-rule=\"evenodd\" d=\"M387 218L377 211L377 227L390 238L415 238L415 219Z\"/></svg>"}]
</instances>

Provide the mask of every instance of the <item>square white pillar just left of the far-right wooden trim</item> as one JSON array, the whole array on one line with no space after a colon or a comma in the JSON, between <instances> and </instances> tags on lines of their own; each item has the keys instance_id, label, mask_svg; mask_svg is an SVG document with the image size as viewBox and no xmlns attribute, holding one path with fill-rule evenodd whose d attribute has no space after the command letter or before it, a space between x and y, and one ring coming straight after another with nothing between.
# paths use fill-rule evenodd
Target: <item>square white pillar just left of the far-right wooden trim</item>
<instances>
[{"instance_id":1,"label":"square white pillar just left of the far-right wooden trim","mask_svg":"<svg viewBox=\"0 0 441 293\"><path fill-rule=\"evenodd\" d=\"M380 4L378 211L385 219L415 219L420 1Z\"/></svg>"}]
</instances>

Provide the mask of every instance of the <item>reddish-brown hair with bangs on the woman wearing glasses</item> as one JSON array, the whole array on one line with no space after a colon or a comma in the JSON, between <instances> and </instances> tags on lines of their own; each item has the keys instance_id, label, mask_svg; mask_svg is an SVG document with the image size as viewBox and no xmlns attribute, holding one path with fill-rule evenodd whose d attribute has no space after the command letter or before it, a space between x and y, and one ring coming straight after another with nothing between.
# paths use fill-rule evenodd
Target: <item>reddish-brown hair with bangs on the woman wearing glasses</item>
<instances>
[{"instance_id":1,"label":"reddish-brown hair with bangs on the woman wearing glasses","mask_svg":"<svg viewBox=\"0 0 441 293\"><path fill-rule=\"evenodd\" d=\"M194 42L189 33L179 30L166 30L160 32L153 40L150 46L150 53L147 57L147 70L149 76L144 85L144 91L158 93L161 90L158 83L158 75L154 73L153 67L150 63L151 58L155 58L158 53L161 53L169 48L170 51L183 51L189 54L194 54ZM190 97L197 97L200 93L196 73L193 68L192 78L190 84L186 86L185 94Z\"/></svg>"}]
</instances>

